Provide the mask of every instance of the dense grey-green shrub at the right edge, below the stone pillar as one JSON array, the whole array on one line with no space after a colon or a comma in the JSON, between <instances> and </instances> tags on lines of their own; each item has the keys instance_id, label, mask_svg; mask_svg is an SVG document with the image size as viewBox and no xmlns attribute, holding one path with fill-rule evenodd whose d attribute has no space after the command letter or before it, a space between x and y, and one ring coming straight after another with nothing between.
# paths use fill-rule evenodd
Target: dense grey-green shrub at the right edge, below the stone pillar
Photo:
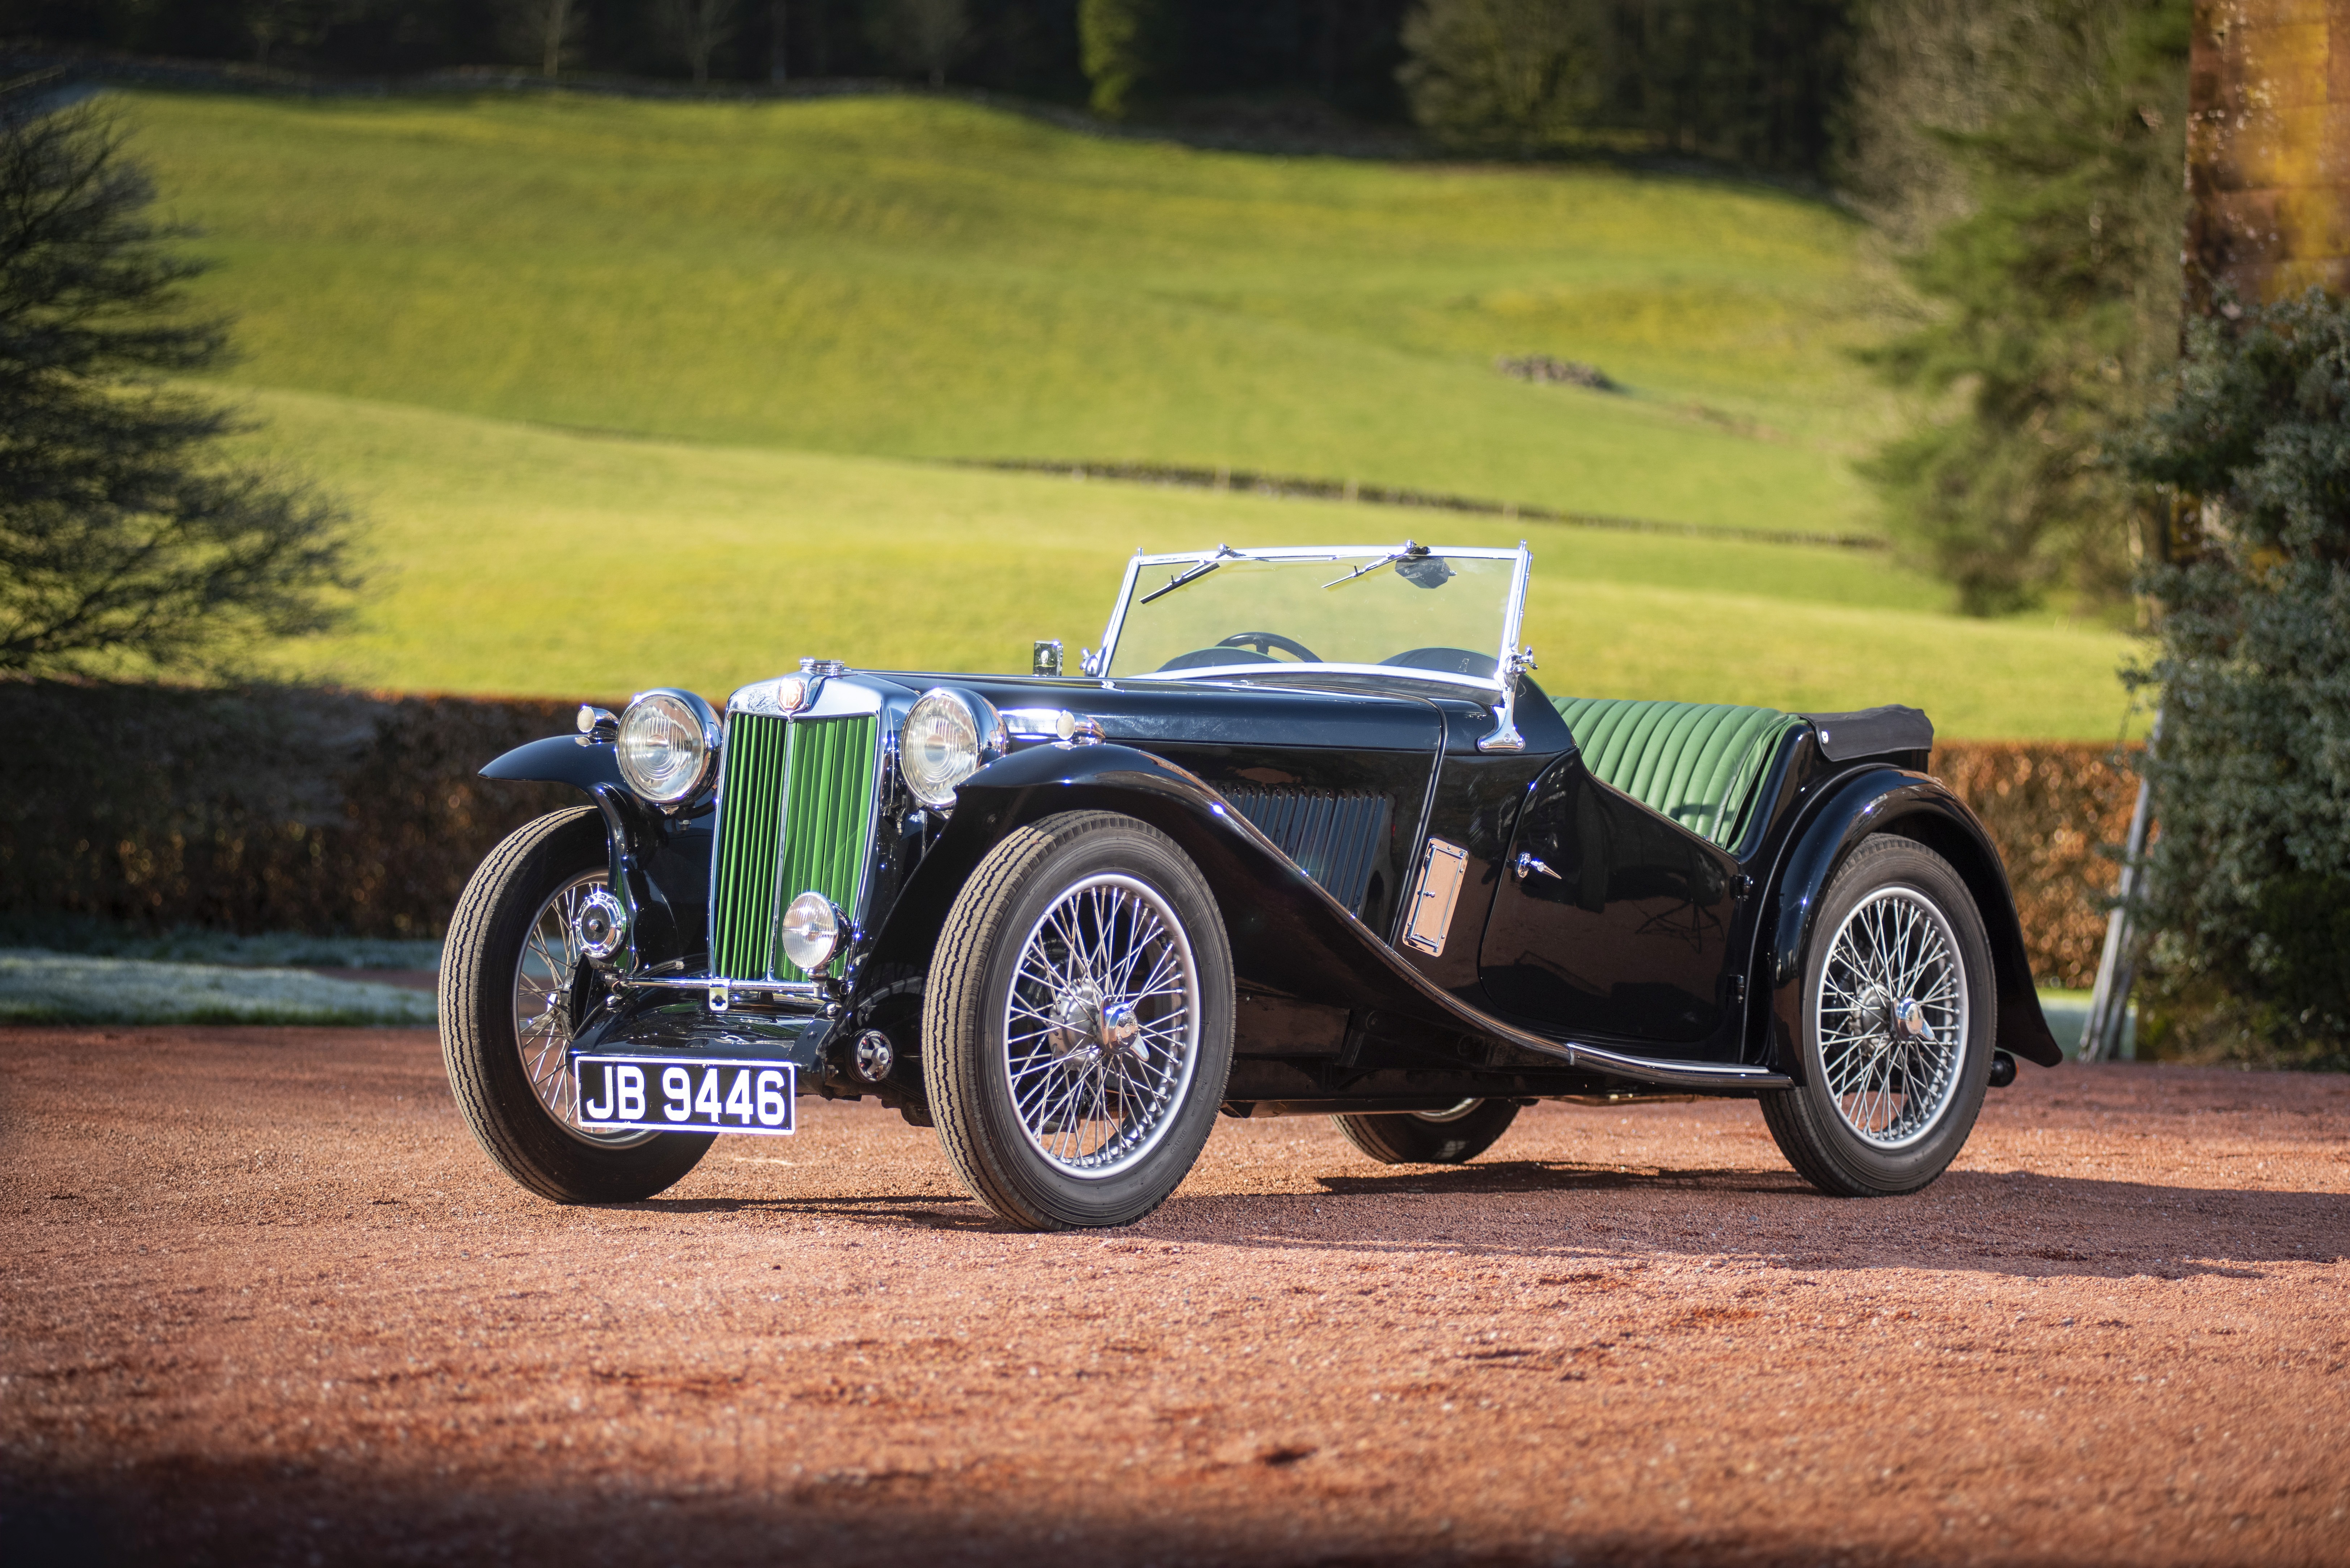
<instances>
[{"instance_id":1,"label":"dense grey-green shrub at the right edge, below the stone pillar","mask_svg":"<svg viewBox=\"0 0 2350 1568\"><path fill-rule=\"evenodd\" d=\"M2225 992L2214 1034L2350 1065L2350 308L2195 322L2129 468L2178 498L2164 559L2150 969Z\"/></svg>"}]
</instances>

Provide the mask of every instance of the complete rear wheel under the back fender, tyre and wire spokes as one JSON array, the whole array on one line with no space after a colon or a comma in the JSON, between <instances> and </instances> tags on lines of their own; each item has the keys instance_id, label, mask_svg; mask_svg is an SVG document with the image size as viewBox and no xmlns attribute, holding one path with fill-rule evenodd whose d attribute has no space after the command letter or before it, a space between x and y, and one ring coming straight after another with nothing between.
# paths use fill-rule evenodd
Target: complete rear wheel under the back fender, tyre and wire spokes
<instances>
[{"instance_id":1,"label":"complete rear wheel under the back fender, tyre and wire spokes","mask_svg":"<svg viewBox=\"0 0 2350 1568\"><path fill-rule=\"evenodd\" d=\"M1762 1121L1828 1197L1918 1192L1974 1131L1998 1001L1974 896L1925 844L1880 835L1828 882L1802 969L1798 1084Z\"/></svg>"}]
</instances>

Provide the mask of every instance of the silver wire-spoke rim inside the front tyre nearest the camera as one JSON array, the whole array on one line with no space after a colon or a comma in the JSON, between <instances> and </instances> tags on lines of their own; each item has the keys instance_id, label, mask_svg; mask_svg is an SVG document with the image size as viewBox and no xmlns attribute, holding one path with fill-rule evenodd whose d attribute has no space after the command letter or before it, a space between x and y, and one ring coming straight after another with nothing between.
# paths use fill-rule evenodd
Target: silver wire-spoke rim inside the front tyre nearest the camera
<instances>
[{"instance_id":1,"label":"silver wire-spoke rim inside the front tyre nearest the camera","mask_svg":"<svg viewBox=\"0 0 2350 1568\"><path fill-rule=\"evenodd\" d=\"M1128 1171L1198 1065L1201 976L1147 882L1083 877L1029 926L1003 999L1003 1070L1029 1145L1060 1171Z\"/></svg>"}]
</instances>

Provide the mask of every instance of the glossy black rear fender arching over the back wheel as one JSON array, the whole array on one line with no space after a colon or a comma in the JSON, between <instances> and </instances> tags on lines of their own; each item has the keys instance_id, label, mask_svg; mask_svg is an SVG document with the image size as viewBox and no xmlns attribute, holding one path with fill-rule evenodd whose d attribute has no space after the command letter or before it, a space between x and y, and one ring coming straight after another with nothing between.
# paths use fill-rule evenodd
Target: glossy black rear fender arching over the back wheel
<instances>
[{"instance_id":1,"label":"glossy black rear fender arching over the back wheel","mask_svg":"<svg viewBox=\"0 0 2350 1568\"><path fill-rule=\"evenodd\" d=\"M1878 832L1918 839L1965 879L1990 938L1990 966L2000 994L1998 1046L2042 1067L2059 1065L2063 1048L2040 1013L2040 992L2033 987L2033 966L2023 950L2023 922L1990 835L1967 802L1939 778L1880 766L1838 780L1812 806L1774 877L1774 917L1765 924L1758 969L1770 973L1772 983L1772 1056L1779 1070L1802 1070L1802 1053L1795 1051L1802 1030L1802 961L1819 900L1845 856Z\"/></svg>"}]
</instances>

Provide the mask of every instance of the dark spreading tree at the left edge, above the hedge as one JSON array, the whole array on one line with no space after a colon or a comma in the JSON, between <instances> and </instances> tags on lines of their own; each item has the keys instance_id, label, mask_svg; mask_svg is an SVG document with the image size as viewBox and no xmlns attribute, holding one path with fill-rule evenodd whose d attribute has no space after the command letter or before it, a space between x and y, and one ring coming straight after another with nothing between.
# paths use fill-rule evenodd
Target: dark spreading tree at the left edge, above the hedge
<instances>
[{"instance_id":1,"label":"dark spreading tree at the left edge, above the hedge","mask_svg":"<svg viewBox=\"0 0 2350 1568\"><path fill-rule=\"evenodd\" d=\"M0 672L195 672L338 623L350 522L169 383L228 353L89 106L0 101Z\"/></svg>"}]
</instances>

